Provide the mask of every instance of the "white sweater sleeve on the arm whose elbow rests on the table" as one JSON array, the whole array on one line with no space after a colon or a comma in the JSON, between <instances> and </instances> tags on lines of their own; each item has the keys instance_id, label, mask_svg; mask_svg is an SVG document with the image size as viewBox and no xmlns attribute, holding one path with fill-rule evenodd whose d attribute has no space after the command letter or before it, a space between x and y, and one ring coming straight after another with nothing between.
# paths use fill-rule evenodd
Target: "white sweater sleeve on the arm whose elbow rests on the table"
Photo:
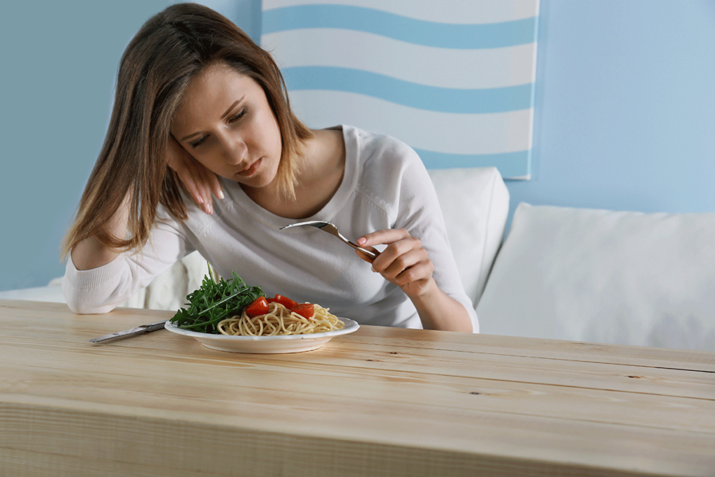
<instances>
[{"instance_id":1,"label":"white sweater sleeve on the arm whose elbow rests on the table","mask_svg":"<svg viewBox=\"0 0 715 477\"><path fill-rule=\"evenodd\" d=\"M67 305L74 313L108 313L193 250L182 226L160 213L142 250L92 270L77 270L70 255L62 278Z\"/></svg>"}]
</instances>

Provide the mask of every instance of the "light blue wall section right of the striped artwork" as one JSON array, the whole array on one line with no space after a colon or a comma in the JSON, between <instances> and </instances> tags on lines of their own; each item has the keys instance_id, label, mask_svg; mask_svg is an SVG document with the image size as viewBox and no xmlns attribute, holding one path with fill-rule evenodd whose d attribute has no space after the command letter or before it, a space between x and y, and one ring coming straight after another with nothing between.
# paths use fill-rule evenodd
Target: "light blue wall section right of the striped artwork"
<instances>
[{"instance_id":1,"label":"light blue wall section right of the striped artwork","mask_svg":"<svg viewBox=\"0 0 715 477\"><path fill-rule=\"evenodd\" d=\"M715 1L542 0L518 202L715 212Z\"/></svg>"}]
</instances>

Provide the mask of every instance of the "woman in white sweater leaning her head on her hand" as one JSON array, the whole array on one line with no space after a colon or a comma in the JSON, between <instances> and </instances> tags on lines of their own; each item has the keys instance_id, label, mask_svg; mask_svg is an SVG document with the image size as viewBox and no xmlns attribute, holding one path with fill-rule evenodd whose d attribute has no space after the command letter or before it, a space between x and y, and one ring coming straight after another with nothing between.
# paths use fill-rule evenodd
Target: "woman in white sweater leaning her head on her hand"
<instances>
[{"instance_id":1,"label":"woman in white sweater leaning her head on her hand","mask_svg":"<svg viewBox=\"0 0 715 477\"><path fill-rule=\"evenodd\" d=\"M279 230L299 220L384 250L373 261L312 227ZM63 250L77 313L112 310L199 250L222 276L360 323L478 330L415 152L354 127L307 129L270 54L197 4L153 16L124 51Z\"/></svg>"}]
</instances>

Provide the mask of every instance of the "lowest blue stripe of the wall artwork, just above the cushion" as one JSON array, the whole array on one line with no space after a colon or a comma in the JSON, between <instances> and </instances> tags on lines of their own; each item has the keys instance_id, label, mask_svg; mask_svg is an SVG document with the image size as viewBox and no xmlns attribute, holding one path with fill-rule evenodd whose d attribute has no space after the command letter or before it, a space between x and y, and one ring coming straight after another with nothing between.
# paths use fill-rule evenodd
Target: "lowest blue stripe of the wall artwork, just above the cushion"
<instances>
[{"instance_id":1,"label":"lowest blue stripe of the wall artwork, just above the cushion","mask_svg":"<svg viewBox=\"0 0 715 477\"><path fill-rule=\"evenodd\" d=\"M501 177L528 177L531 174L531 149L501 154L448 154L446 152L415 149L428 169L455 169L456 167L492 167L499 169Z\"/></svg>"}]
</instances>

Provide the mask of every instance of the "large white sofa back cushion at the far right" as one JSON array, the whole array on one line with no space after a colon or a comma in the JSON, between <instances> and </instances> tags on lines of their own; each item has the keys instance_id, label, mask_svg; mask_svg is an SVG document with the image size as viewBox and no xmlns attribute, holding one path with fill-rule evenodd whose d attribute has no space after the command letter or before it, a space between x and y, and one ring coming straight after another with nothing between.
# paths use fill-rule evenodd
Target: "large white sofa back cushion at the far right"
<instances>
[{"instance_id":1,"label":"large white sofa back cushion at the far right","mask_svg":"<svg viewBox=\"0 0 715 477\"><path fill-rule=\"evenodd\" d=\"M715 351L715 213L518 205L482 333Z\"/></svg>"}]
</instances>

